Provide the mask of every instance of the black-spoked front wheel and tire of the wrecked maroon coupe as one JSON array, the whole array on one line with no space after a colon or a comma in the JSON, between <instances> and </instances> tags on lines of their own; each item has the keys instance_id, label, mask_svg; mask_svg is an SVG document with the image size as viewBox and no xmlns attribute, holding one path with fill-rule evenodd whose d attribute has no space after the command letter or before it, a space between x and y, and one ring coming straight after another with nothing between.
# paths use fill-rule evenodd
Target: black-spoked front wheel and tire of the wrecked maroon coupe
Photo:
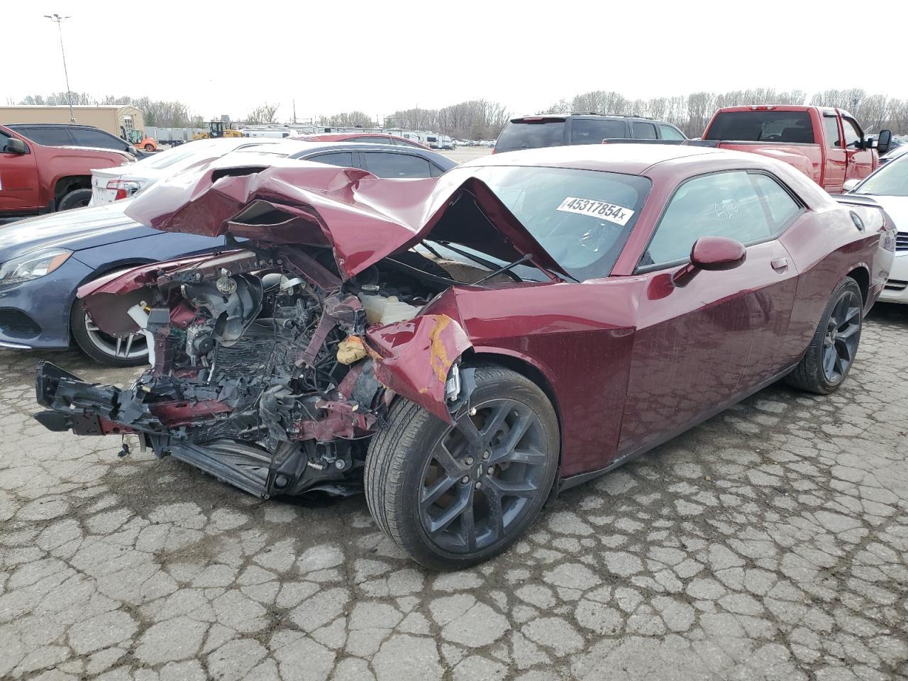
<instances>
[{"instance_id":1,"label":"black-spoked front wheel and tire of the wrecked maroon coupe","mask_svg":"<svg viewBox=\"0 0 908 681\"><path fill-rule=\"evenodd\" d=\"M508 548L537 517L558 469L558 418L545 393L501 367L480 367L475 378L472 415L449 425L398 400L370 442L372 517L427 568L469 568Z\"/></svg>"}]
</instances>

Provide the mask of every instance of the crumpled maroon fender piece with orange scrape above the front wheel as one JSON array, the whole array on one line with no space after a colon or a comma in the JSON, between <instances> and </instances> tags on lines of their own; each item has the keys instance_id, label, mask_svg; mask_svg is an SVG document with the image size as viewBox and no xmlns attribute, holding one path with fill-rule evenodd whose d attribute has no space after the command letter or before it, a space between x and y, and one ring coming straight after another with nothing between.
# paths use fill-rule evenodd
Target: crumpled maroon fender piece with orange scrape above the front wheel
<instances>
[{"instance_id":1,"label":"crumpled maroon fender piece with orange scrape above the front wheel","mask_svg":"<svg viewBox=\"0 0 908 681\"><path fill-rule=\"evenodd\" d=\"M445 383L451 365L472 347L447 314L427 314L366 331L375 378L448 423Z\"/></svg>"}]
</instances>

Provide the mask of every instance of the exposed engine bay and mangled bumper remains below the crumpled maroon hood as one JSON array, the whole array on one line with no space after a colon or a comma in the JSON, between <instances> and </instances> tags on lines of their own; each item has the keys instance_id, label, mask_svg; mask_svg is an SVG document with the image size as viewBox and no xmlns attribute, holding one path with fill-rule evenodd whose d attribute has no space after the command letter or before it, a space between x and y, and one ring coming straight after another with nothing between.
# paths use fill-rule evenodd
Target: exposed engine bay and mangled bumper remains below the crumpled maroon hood
<instances>
[{"instance_id":1,"label":"exposed engine bay and mangled bumper remains below the crumpled maroon hood","mask_svg":"<svg viewBox=\"0 0 908 681\"><path fill-rule=\"evenodd\" d=\"M356 491L370 433L396 394L393 352L369 327L408 338L422 327L438 346L428 369L449 413L468 395L469 370L461 377L450 359L469 346L463 331L439 315L410 321L454 282L445 264L474 281L489 274L410 250L341 281L331 252L286 248L157 271L153 286L92 301L98 319L128 306L152 368L119 390L44 363L38 399L53 411L37 418L80 434L135 433L157 456L262 497Z\"/></svg>"}]
</instances>

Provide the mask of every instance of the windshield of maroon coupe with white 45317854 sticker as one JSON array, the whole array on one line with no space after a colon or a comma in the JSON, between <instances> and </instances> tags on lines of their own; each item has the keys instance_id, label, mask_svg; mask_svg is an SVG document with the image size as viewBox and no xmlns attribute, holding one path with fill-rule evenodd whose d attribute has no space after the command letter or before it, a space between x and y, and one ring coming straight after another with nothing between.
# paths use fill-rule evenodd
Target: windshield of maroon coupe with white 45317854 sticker
<instances>
[{"instance_id":1,"label":"windshield of maroon coupe with white 45317854 sticker","mask_svg":"<svg viewBox=\"0 0 908 681\"><path fill-rule=\"evenodd\" d=\"M489 185L546 252L580 281L608 276L652 185L638 175L568 168L463 171Z\"/></svg>"}]
</instances>

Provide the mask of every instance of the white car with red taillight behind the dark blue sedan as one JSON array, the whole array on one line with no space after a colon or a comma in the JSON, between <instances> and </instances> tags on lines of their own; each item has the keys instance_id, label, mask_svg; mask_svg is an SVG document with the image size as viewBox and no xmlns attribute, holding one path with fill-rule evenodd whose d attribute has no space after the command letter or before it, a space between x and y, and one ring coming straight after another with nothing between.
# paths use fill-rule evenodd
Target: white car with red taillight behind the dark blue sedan
<instances>
[{"instance_id":1,"label":"white car with red taillight behind the dark blue sedan","mask_svg":"<svg viewBox=\"0 0 908 681\"><path fill-rule=\"evenodd\" d=\"M136 163L93 170L92 200L88 205L97 206L135 196L163 177L170 177L195 163L207 163L237 149L279 142L280 139L252 140L246 137L196 140L166 152L155 153Z\"/></svg>"}]
</instances>

